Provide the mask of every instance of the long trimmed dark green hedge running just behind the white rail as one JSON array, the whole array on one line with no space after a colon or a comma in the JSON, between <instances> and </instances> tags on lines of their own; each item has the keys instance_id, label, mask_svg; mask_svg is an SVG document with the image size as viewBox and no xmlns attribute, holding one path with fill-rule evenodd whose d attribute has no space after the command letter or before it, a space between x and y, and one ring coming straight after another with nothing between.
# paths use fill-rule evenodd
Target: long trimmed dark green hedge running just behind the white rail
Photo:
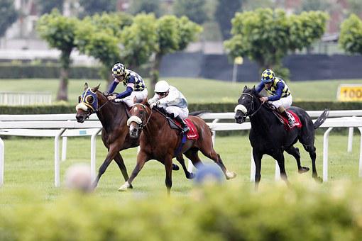
<instances>
[{"instance_id":1,"label":"long trimmed dark green hedge running just behind the white rail","mask_svg":"<svg viewBox=\"0 0 362 241\"><path fill-rule=\"evenodd\" d=\"M236 103L190 103L190 111L232 112ZM293 106L299 106L308 111L362 109L362 102L317 102L295 101ZM50 106L0 106L0 114L56 114L75 113L75 104L57 103Z\"/></svg>"}]
</instances>

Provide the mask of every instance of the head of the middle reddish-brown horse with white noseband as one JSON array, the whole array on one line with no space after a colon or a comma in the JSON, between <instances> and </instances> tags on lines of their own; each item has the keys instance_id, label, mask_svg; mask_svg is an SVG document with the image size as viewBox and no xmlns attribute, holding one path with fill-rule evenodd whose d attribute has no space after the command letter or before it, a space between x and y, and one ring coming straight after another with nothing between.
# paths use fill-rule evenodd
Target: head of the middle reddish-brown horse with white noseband
<instances>
[{"instance_id":1,"label":"head of the middle reddish-brown horse with white noseband","mask_svg":"<svg viewBox=\"0 0 362 241\"><path fill-rule=\"evenodd\" d=\"M147 103L134 103L131 111L131 117L127 120L127 125L129 127L129 135L131 138L138 138L141 134L141 131L145 125L147 125L148 120L150 120L150 115L152 111L148 113Z\"/></svg>"}]
</instances>

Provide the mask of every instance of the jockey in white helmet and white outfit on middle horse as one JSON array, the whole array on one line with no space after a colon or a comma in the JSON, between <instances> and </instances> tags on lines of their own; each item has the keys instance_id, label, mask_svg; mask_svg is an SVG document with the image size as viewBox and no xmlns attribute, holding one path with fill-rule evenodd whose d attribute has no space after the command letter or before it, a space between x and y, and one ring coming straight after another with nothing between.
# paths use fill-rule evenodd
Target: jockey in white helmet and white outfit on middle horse
<instances>
[{"instance_id":1,"label":"jockey in white helmet and white outfit on middle horse","mask_svg":"<svg viewBox=\"0 0 362 241\"><path fill-rule=\"evenodd\" d=\"M190 129L184 119L189 116L187 101L185 96L176 89L170 86L165 80L161 80L155 85L155 96L148 100L150 108L159 106L165 109L169 114L172 114L182 127L182 133L187 133Z\"/></svg>"}]
</instances>

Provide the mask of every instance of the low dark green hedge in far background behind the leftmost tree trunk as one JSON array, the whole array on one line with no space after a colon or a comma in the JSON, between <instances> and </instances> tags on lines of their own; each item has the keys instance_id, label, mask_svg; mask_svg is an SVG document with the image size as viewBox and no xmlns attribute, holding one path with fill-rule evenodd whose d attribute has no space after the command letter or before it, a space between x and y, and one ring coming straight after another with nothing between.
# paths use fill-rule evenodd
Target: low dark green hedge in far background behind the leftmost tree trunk
<instances>
[{"instance_id":1,"label":"low dark green hedge in far background behind the leftmost tree trunk","mask_svg":"<svg viewBox=\"0 0 362 241\"><path fill-rule=\"evenodd\" d=\"M16 68L16 71L13 69ZM58 79L60 65L0 65L0 79ZM99 79L98 67L70 67L69 77L72 79ZM1 80L0 80L1 82Z\"/></svg>"}]
</instances>

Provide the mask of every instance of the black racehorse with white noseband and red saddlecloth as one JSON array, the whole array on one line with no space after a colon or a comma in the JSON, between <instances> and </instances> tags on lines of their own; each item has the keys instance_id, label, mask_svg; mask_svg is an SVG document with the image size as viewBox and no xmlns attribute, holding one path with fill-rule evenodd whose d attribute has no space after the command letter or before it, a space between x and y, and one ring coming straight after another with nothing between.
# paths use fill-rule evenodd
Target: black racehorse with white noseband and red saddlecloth
<instances>
[{"instance_id":1,"label":"black racehorse with white noseband and red saddlecloth","mask_svg":"<svg viewBox=\"0 0 362 241\"><path fill-rule=\"evenodd\" d=\"M300 152L293 145L299 140L305 150L309 152L312 159L312 176L317 181L322 179L317 174L315 166L316 148L314 147L314 130L319 128L329 115L329 109L325 109L321 116L313 123L306 111L302 108L292 106L287 110L293 111L302 123L301 128L292 128L286 130L283 123L273 113L268 103L261 103L256 94L255 87L248 89L244 87L243 93L238 99L238 105L235 108L236 123L243 123L248 116L251 122L249 140L253 147L253 158L256 165L256 188L260 182L261 159L263 155L270 155L279 165L280 176L287 182L285 173L284 154L286 151L297 160L298 172L303 173L309 170L308 167L300 165Z\"/></svg>"}]
</instances>

